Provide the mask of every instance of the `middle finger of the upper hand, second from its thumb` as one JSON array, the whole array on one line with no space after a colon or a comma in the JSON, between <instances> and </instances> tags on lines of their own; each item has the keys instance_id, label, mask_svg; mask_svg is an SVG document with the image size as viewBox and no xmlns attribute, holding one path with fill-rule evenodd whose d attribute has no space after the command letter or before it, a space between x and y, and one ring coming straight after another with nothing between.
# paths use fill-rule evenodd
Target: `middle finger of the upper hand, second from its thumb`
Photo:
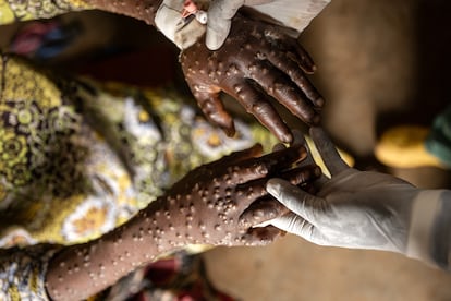
<instances>
[{"instance_id":1,"label":"middle finger of the upper hand, second from its thumb","mask_svg":"<svg viewBox=\"0 0 451 301\"><path fill-rule=\"evenodd\" d=\"M319 122L319 115L315 111L312 100L301 89L293 87L293 83L278 69L263 61L253 64L249 71L251 79L294 116L308 124ZM303 87L305 88L305 86Z\"/></svg>"}]
</instances>

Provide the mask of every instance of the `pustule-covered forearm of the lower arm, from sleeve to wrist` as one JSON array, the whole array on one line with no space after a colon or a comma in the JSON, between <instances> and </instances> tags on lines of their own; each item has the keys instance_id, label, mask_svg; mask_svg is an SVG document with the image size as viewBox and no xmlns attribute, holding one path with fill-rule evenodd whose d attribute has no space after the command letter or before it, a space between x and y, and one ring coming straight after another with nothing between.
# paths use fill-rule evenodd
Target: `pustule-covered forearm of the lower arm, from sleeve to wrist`
<instances>
[{"instance_id":1,"label":"pustule-covered forearm of the lower arm, from sleeve to wrist","mask_svg":"<svg viewBox=\"0 0 451 301\"><path fill-rule=\"evenodd\" d=\"M183 246L171 240L171 229L179 227L167 219L164 202L158 198L101 238L58 253L47 273L47 290L52 300L87 299L137 267Z\"/></svg>"}]
</instances>

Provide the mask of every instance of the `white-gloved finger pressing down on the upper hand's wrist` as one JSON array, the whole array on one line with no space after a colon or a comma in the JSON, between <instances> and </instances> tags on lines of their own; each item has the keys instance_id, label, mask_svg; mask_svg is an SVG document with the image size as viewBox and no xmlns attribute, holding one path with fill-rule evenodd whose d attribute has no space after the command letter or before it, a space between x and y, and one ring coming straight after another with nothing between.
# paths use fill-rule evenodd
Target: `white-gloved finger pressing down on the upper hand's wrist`
<instances>
[{"instance_id":1,"label":"white-gloved finger pressing down on the upper hand's wrist","mask_svg":"<svg viewBox=\"0 0 451 301\"><path fill-rule=\"evenodd\" d=\"M205 44L210 50L218 50L229 35L231 19L244 4L244 0L215 0L208 8Z\"/></svg>"}]
</instances>

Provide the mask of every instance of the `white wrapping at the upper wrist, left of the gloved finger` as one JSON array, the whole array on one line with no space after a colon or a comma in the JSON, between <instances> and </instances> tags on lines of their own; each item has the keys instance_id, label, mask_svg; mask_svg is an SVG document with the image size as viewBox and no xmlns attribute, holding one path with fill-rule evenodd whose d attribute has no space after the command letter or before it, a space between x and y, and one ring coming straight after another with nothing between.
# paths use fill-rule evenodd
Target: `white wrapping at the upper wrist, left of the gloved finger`
<instances>
[{"instance_id":1,"label":"white wrapping at the upper wrist, left of the gloved finger","mask_svg":"<svg viewBox=\"0 0 451 301\"><path fill-rule=\"evenodd\" d=\"M180 49L196 43L205 34L207 23L207 14L202 10L183 16L184 4L184 0L164 0L155 16L158 29Z\"/></svg>"}]
</instances>

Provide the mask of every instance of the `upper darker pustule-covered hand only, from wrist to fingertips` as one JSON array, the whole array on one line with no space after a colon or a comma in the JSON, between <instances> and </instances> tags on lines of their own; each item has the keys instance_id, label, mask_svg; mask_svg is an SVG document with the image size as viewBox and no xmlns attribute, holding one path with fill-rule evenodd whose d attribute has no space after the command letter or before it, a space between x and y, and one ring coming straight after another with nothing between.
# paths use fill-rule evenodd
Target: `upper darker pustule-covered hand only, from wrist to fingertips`
<instances>
[{"instance_id":1,"label":"upper darker pustule-covered hand only, from wrist to fingertips","mask_svg":"<svg viewBox=\"0 0 451 301\"><path fill-rule=\"evenodd\" d=\"M236 15L220 49L210 51L198 40L181 53L180 61L203 112L229 135L234 134L233 119L221 92L240 101L282 142L291 142L292 133L268 96L307 124L319 122L324 99L306 76L315 64L295 38L275 25Z\"/></svg>"}]
</instances>

